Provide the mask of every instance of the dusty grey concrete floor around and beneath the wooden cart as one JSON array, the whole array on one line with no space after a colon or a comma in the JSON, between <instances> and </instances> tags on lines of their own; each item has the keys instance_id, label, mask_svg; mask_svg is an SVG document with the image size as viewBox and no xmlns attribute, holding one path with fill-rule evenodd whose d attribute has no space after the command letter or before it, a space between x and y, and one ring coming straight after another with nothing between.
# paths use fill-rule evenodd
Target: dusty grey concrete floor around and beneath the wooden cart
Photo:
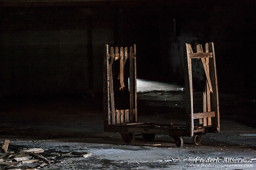
<instances>
[{"instance_id":1,"label":"dusty grey concrete floor around and beneath the wooden cart","mask_svg":"<svg viewBox=\"0 0 256 170\"><path fill-rule=\"evenodd\" d=\"M176 85L163 86L138 93L140 121L184 122L184 92L168 91ZM195 91L195 110L202 108L201 94ZM157 135L153 142L138 136L134 145L125 145L120 134L103 132L101 104L81 96L2 102L0 141L49 152L92 153L87 158L56 158L40 169L255 169L256 161L250 160L256 158L255 101L219 97L221 133L207 133L199 146L184 137L184 146L177 148L168 135Z\"/></svg>"}]
</instances>

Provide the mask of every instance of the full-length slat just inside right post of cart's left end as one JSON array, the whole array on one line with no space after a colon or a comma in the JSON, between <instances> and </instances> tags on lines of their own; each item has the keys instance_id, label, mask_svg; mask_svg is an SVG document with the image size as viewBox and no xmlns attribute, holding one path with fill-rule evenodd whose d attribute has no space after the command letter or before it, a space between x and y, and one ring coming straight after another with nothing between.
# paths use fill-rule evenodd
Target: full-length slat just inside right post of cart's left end
<instances>
[{"instance_id":1,"label":"full-length slat just inside right post of cart's left end","mask_svg":"<svg viewBox=\"0 0 256 170\"><path fill-rule=\"evenodd\" d=\"M130 87L130 123L133 122L133 104L134 104L134 101L133 101L133 97L134 97L134 88L133 88L133 81L134 81L134 78L133 78L133 50L132 50L132 47L130 47L130 76L129 76L129 87Z\"/></svg>"}]
</instances>

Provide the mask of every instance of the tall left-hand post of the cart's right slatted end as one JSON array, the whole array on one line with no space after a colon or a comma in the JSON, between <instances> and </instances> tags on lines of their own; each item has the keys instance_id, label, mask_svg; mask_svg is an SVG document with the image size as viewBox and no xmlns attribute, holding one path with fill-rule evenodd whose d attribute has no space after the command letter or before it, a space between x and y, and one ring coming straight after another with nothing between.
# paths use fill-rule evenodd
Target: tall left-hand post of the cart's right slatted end
<instances>
[{"instance_id":1,"label":"tall left-hand post of the cart's right slatted end","mask_svg":"<svg viewBox=\"0 0 256 170\"><path fill-rule=\"evenodd\" d=\"M186 93L186 115L187 134L193 136L194 120L193 120L193 87L192 87L192 66L191 59L189 58L190 44L185 43L184 52L184 75L185 75L185 93Z\"/></svg>"}]
</instances>

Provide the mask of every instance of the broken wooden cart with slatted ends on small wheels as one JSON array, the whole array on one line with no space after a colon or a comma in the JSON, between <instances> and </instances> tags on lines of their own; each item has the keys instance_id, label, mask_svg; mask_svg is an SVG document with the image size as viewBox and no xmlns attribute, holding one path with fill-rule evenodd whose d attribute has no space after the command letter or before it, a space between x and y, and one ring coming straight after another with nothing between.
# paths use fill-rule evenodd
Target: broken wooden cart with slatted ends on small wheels
<instances>
[{"instance_id":1,"label":"broken wooden cart with slatted ends on small wheels","mask_svg":"<svg viewBox=\"0 0 256 170\"><path fill-rule=\"evenodd\" d=\"M172 126L152 122L137 122L136 90L136 45L128 48L110 48L105 45L104 54L104 131L120 133L125 143L132 143L136 134L142 134L147 141L153 141L155 134L166 134L174 138L177 147L183 145L182 137L192 137L196 145L203 134L219 133L219 99L215 64L214 44L206 43L206 51L198 44L193 53L190 44L185 44L185 94L187 123ZM203 92L203 111L193 112L192 59L202 60L206 74L206 87ZM126 64L125 63L129 63ZM126 66L126 67L125 67ZM114 68L115 67L115 68ZM125 71L126 70L126 71ZM128 70L128 71L127 71ZM115 74L113 76L113 74ZM118 81L116 81L117 79ZM128 80L129 77L129 88ZM114 81L113 81L113 78ZM118 83L117 83L118 82ZM125 84L126 83L126 84ZM128 100L125 100L126 98ZM115 105L115 102L117 105ZM120 104L125 103L125 104ZM194 120L199 119L199 126Z\"/></svg>"}]
</instances>

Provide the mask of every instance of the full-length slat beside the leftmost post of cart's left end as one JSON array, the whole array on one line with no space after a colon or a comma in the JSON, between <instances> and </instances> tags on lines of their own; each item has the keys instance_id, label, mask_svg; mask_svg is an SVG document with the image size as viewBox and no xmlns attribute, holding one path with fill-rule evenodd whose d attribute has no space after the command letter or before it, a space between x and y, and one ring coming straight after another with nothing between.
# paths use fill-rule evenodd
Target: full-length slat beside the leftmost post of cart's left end
<instances>
[{"instance_id":1,"label":"full-length slat beside the leftmost post of cart's left end","mask_svg":"<svg viewBox=\"0 0 256 170\"><path fill-rule=\"evenodd\" d=\"M112 64L114 62L114 48L110 48L110 63L109 63L109 86L110 86L110 102L111 102L111 115L112 115L112 124L116 124L115 119L115 105L114 105L114 89L113 89L113 76L112 76Z\"/></svg>"}]
</instances>

